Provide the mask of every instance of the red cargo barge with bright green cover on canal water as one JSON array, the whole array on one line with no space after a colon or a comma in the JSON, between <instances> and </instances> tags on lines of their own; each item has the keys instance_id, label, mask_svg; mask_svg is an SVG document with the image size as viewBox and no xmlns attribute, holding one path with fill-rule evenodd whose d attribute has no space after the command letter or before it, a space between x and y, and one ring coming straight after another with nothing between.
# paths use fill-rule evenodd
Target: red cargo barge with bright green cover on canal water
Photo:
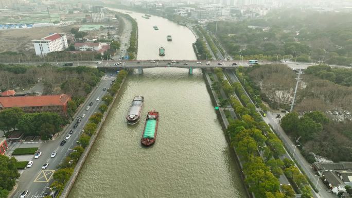
<instances>
[{"instance_id":1,"label":"red cargo barge with bright green cover on canal water","mask_svg":"<svg viewBox=\"0 0 352 198\"><path fill-rule=\"evenodd\" d=\"M142 134L142 145L148 147L153 145L156 138L157 124L159 123L159 112L150 111L148 112L146 124Z\"/></svg>"}]
</instances>

